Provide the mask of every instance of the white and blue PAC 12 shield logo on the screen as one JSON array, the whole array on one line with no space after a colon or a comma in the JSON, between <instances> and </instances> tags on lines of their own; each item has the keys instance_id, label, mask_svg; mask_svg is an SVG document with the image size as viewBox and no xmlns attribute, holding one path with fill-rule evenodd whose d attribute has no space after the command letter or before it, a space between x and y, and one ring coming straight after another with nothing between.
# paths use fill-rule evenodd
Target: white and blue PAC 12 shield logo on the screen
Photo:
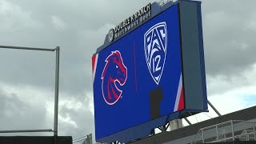
<instances>
[{"instance_id":1,"label":"white and blue PAC 12 shield logo on the screen","mask_svg":"<svg viewBox=\"0 0 256 144\"><path fill-rule=\"evenodd\" d=\"M166 62L167 28L166 22L159 22L146 31L144 51L147 67L158 85Z\"/></svg>"}]
</instances>

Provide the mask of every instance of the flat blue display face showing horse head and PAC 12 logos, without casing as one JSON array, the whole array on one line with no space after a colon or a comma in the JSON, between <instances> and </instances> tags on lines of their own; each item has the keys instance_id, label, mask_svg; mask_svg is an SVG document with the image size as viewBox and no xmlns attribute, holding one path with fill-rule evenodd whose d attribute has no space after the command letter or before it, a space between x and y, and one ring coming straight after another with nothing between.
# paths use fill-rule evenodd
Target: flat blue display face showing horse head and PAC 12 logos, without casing
<instances>
[{"instance_id":1,"label":"flat blue display face showing horse head and PAC 12 logos, without casing","mask_svg":"<svg viewBox=\"0 0 256 144\"><path fill-rule=\"evenodd\" d=\"M94 54L96 140L185 109L180 45L174 5Z\"/></svg>"}]
</instances>

